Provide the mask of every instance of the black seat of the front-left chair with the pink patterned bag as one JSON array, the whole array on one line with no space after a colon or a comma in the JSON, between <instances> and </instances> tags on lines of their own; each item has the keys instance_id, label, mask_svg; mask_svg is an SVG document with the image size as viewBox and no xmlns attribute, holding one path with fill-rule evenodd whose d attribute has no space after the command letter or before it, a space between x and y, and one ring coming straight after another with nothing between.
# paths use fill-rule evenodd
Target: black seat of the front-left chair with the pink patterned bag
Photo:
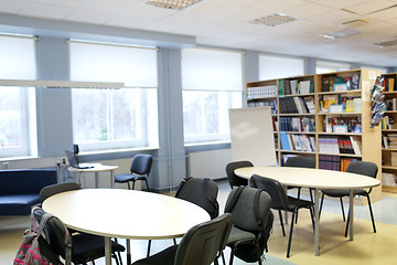
<instances>
[{"instance_id":1,"label":"black seat of the front-left chair with the pink patterned bag","mask_svg":"<svg viewBox=\"0 0 397 265\"><path fill-rule=\"evenodd\" d=\"M105 239L93 234L77 234L73 236L72 261L75 264L85 264L105 256ZM124 252L126 248L111 241L111 252Z\"/></svg>"}]
</instances>

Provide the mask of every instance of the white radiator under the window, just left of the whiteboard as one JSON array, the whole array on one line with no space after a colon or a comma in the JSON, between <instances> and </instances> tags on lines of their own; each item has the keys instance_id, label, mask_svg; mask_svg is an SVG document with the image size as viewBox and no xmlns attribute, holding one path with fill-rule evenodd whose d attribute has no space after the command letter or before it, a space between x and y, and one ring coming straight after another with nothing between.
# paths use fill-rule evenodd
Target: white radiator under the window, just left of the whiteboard
<instances>
[{"instance_id":1,"label":"white radiator under the window, just left of the whiteboard","mask_svg":"<svg viewBox=\"0 0 397 265\"><path fill-rule=\"evenodd\" d=\"M190 152L187 155L189 177L203 179L226 178L226 165L230 161L230 149Z\"/></svg>"}]
</instances>

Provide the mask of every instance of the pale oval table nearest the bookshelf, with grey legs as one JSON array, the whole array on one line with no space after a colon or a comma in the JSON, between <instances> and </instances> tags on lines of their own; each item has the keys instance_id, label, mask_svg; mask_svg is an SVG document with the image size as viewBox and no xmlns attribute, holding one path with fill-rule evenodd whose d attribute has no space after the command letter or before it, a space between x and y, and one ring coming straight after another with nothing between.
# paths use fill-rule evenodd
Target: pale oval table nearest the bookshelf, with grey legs
<instances>
[{"instance_id":1,"label":"pale oval table nearest the bookshelf, with grey legs","mask_svg":"<svg viewBox=\"0 0 397 265\"><path fill-rule=\"evenodd\" d=\"M353 189L365 189L380 184L367 176L325 169L292 167L249 167L239 168L235 173L249 179L253 174L278 180L283 186L313 188L314 192L314 254L320 255L319 191L323 189L348 189L350 192L350 240L353 240Z\"/></svg>"}]
</instances>

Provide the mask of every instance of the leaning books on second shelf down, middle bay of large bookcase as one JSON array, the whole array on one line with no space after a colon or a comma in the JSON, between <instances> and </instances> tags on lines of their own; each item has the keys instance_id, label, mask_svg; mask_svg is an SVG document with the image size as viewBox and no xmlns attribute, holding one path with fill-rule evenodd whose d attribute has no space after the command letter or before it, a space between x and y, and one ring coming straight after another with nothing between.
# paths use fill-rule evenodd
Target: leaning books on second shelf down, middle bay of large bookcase
<instances>
[{"instance_id":1,"label":"leaning books on second shelf down, middle bay of large bookcase","mask_svg":"<svg viewBox=\"0 0 397 265\"><path fill-rule=\"evenodd\" d=\"M280 97L280 114L314 114L315 106L312 96Z\"/></svg>"}]
</instances>

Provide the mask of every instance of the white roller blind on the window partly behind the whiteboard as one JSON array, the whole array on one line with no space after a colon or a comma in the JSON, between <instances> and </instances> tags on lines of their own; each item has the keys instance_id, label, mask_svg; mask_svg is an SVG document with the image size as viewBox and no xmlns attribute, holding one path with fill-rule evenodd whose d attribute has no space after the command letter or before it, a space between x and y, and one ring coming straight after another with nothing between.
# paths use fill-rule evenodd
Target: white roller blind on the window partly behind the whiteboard
<instances>
[{"instance_id":1,"label":"white roller blind on the window partly behind the whiteboard","mask_svg":"<svg viewBox=\"0 0 397 265\"><path fill-rule=\"evenodd\" d=\"M190 47L182 51L185 91L242 91L242 53Z\"/></svg>"}]
</instances>

